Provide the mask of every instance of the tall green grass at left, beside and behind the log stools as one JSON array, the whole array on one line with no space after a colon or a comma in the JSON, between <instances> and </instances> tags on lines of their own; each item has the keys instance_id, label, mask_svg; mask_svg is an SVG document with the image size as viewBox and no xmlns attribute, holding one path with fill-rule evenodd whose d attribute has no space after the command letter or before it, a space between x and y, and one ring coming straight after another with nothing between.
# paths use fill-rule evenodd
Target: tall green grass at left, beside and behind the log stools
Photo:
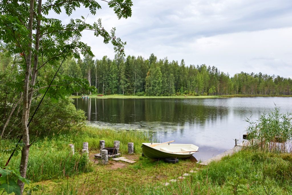
<instances>
[{"instance_id":1,"label":"tall green grass at left, beside and behind the log stools","mask_svg":"<svg viewBox=\"0 0 292 195\"><path fill-rule=\"evenodd\" d=\"M72 134L73 133L73 134ZM128 153L128 142L134 142L134 152L141 153L141 143L152 139L151 135L134 131L100 130L86 127L70 134L56 134L51 137L37 139L29 149L27 179L33 182L60 177L70 177L80 172L92 171L91 163L85 155L81 155L83 142L88 142L90 151L99 150L99 140L105 140L105 146L113 146L120 141L120 152ZM0 149L11 149L16 140L0 140ZM74 144L73 155L68 144ZM3 168L10 153L0 151L0 167ZM9 166L19 168L20 152L14 155Z\"/></svg>"}]
</instances>

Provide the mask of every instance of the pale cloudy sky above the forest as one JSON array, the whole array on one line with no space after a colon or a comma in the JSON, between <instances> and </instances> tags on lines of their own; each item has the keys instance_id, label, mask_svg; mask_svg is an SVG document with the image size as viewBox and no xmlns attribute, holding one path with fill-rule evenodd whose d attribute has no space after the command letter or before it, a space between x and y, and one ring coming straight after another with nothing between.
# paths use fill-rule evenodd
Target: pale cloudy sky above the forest
<instances>
[{"instance_id":1,"label":"pale cloudy sky above the forest","mask_svg":"<svg viewBox=\"0 0 292 195\"><path fill-rule=\"evenodd\" d=\"M241 71L292 78L291 0L132 0L132 17L118 19L107 3L90 15L81 8L69 18L101 18L107 31L126 41L126 56L168 61L185 60L188 66L215 66L233 76ZM113 46L103 44L92 32L82 41L91 46L94 59L114 58Z\"/></svg>"}]
</instances>

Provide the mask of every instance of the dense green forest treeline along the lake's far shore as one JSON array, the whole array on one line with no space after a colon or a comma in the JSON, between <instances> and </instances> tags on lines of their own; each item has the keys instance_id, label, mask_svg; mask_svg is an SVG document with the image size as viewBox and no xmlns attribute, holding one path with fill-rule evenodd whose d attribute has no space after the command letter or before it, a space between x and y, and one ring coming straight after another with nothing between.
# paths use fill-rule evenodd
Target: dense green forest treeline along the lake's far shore
<instances>
[{"instance_id":1,"label":"dense green forest treeline along the lake's far shore","mask_svg":"<svg viewBox=\"0 0 292 195\"><path fill-rule=\"evenodd\" d=\"M2 69L12 61L13 58L2 58ZM291 95L292 91L291 78L244 72L230 77L215 66L187 66L184 60L158 60L154 54L149 59L118 55L100 60L88 55L78 60L71 57L63 63L60 74L85 78L98 94L104 95Z\"/></svg>"}]
</instances>

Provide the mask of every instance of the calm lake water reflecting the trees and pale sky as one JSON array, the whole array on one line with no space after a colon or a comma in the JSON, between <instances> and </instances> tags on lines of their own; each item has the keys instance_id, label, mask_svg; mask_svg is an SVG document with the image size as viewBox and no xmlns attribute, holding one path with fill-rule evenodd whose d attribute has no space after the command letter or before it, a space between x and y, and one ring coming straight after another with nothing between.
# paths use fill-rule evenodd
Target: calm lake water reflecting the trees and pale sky
<instances>
[{"instance_id":1,"label":"calm lake water reflecting the trees and pale sky","mask_svg":"<svg viewBox=\"0 0 292 195\"><path fill-rule=\"evenodd\" d=\"M194 144L197 160L231 149L242 140L248 123L274 107L292 112L292 97L74 99L90 125L100 128L148 131L160 142ZM139 146L140 147L140 146Z\"/></svg>"}]
</instances>

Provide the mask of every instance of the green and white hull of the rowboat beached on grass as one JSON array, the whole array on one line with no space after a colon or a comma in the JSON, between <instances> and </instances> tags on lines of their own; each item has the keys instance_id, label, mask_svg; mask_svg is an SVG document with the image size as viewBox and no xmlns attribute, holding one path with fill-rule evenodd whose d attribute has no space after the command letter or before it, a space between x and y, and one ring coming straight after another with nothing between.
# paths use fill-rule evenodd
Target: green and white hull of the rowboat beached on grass
<instances>
[{"instance_id":1,"label":"green and white hull of the rowboat beached on grass","mask_svg":"<svg viewBox=\"0 0 292 195\"><path fill-rule=\"evenodd\" d=\"M178 152L171 153L166 151L161 151L161 148L172 149L173 151L180 151L180 148L186 148L189 151L197 151L198 146L193 144L161 144L159 146L150 146L150 143L142 143L142 152L144 156L150 159L161 159L161 158L188 158L192 156L195 152ZM177 145L177 147L176 147ZM192 148L188 148L188 146L192 146Z\"/></svg>"}]
</instances>

